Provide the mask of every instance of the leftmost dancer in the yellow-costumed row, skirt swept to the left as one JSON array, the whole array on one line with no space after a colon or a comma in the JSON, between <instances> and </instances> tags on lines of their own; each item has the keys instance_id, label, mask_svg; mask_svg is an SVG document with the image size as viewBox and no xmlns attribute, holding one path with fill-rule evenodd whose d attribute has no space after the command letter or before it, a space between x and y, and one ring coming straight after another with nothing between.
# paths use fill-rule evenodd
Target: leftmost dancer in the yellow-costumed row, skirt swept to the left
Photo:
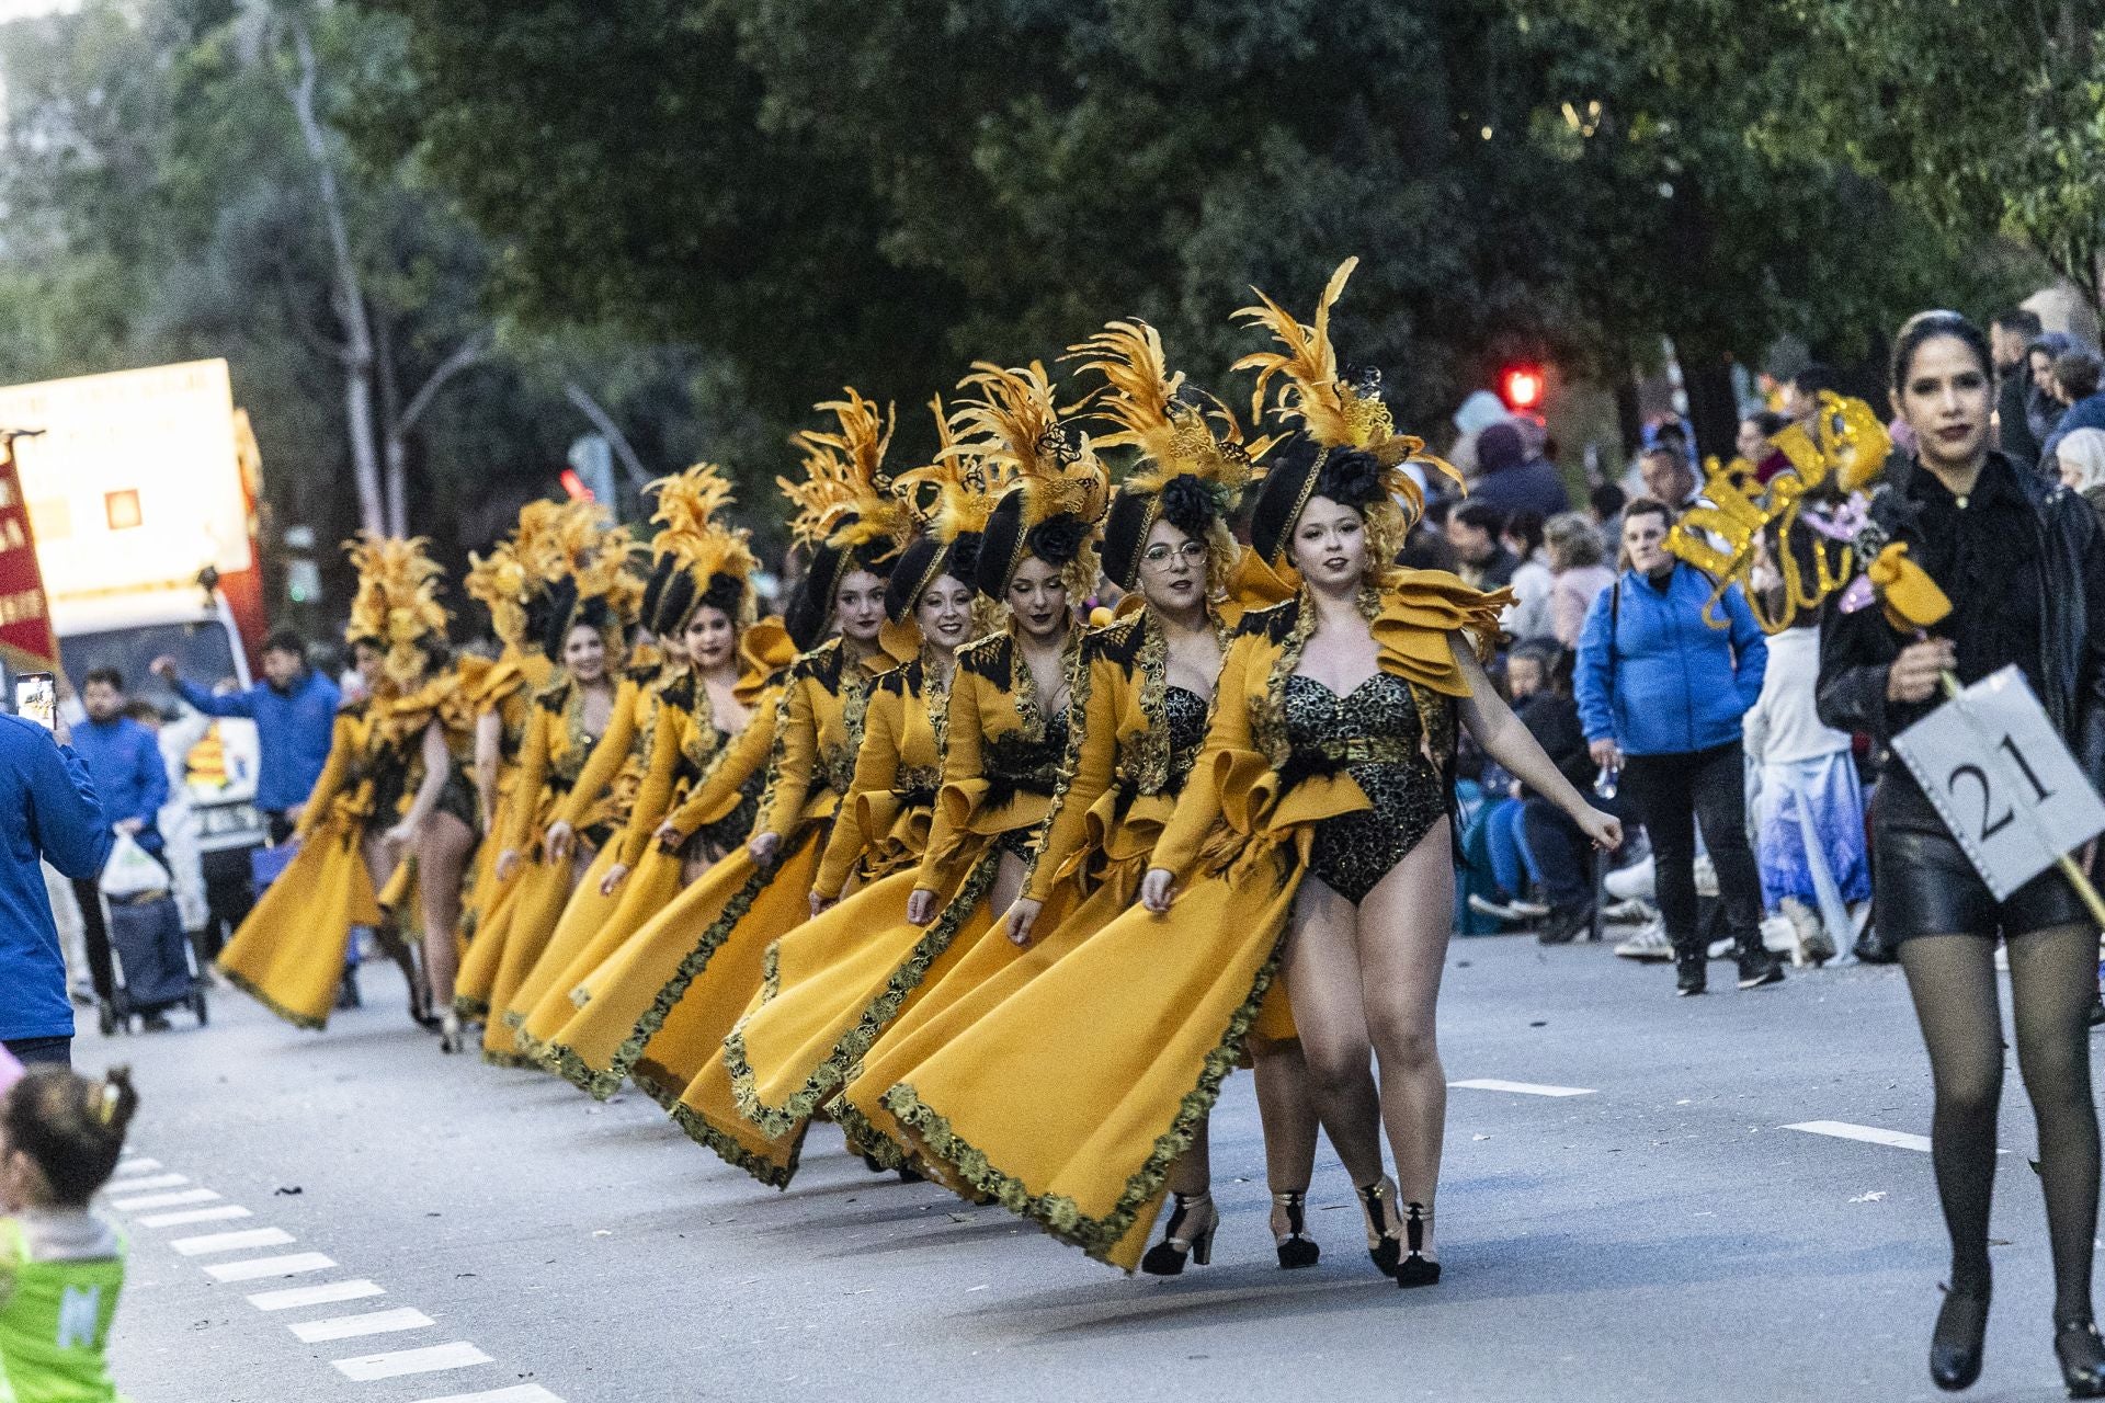
<instances>
[{"instance_id":1,"label":"leftmost dancer in the yellow-costumed row, skirt swept to the left","mask_svg":"<svg viewBox=\"0 0 2105 1403\"><path fill-rule=\"evenodd\" d=\"M219 970L280 1018L320 1029L337 999L352 928L368 926L408 982L410 1018L436 1026L429 987L406 942L415 902L402 858L427 843L440 858L457 854L450 871L459 888L476 827L465 761L474 717L446 667L440 568L423 541L368 534L345 549L358 570L345 639L366 696L337 713L328 764L293 831L301 850L227 940ZM450 974L453 921L432 936L427 959Z\"/></svg>"}]
</instances>

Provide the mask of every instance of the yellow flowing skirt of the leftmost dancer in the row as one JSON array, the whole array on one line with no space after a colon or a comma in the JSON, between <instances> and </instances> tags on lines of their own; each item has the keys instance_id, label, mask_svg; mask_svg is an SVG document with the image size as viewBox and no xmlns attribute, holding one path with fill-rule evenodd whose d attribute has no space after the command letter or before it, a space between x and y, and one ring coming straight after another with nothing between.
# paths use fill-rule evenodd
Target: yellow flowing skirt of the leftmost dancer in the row
<instances>
[{"instance_id":1,"label":"yellow flowing skirt of the leftmost dancer in the row","mask_svg":"<svg viewBox=\"0 0 2105 1403\"><path fill-rule=\"evenodd\" d=\"M257 1003L301 1029L328 1026L354 926L379 926L358 835L324 822L248 911L219 972Z\"/></svg>"}]
</instances>

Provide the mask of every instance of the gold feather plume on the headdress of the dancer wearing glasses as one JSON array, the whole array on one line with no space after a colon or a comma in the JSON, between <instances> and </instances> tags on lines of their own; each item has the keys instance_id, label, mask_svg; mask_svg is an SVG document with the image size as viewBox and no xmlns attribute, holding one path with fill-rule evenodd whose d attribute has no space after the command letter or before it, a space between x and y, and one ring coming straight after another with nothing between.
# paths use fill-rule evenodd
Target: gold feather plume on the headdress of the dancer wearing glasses
<instances>
[{"instance_id":1,"label":"gold feather plume on the headdress of the dancer wearing glasses","mask_svg":"<svg viewBox=\"0 0 2105 1403\"><path fill-rule=\"evenodd\" d=\"M1206 484L1223 511L1234 511L1255 471L1252 459L1271 442L1244 444L1234 410L1212 395L1204 395L1206 404L1183 400L1185 377L1181 370L1170 374L1162 332L1139 320L1109 322L1067 351L1067 360L1082 362L1080 370L1105 379L1097 416L1118 425L1118 431L1099 438L1097 446L1141 450L1126 488L1160 492L1172 477L1189 473Z\"/></svg>"}]
</instances>

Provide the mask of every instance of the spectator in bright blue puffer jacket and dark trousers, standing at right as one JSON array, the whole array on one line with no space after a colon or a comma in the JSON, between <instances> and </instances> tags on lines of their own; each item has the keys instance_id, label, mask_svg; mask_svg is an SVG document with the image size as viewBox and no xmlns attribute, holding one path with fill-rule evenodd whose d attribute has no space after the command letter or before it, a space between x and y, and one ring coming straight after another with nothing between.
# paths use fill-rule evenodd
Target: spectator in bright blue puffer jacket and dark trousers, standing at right
<instances>
[{"instance_id":1,"label":"spectator in bright blue puffer jacket and dark trousers, standing at right","mask_svg":"<svg viewBox=\"0 0 2105 1403\"><path fill-rule=\"evenodd\" d=\"M1673 942L1676 993L1705 989L1697 930L1697 827L1739 951L1739 987L1783 978L1762 947L1762 879L1747 843L1741 717L1762 694L1768 646L1739 585L1705 612L1716 581L1667 553L1673 509L1638 499L1623 511L1623 574L1593 599L1579 633L1579 724L1593 764L1652 839L1659 915Z\"/></svg>"}]
</instances>

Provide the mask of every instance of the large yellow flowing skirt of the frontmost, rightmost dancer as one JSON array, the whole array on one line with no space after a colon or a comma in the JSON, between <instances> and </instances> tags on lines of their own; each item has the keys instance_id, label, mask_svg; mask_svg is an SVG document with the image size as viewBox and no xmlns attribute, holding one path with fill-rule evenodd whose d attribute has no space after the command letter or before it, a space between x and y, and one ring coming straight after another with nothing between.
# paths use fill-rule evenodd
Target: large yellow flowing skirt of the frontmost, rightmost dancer
<instances>
[{"instance_id":1,"label":"large yellow flowing skirt of the frontmost, rightmost dancer","mask_svg":"<svg viewBox=\"0 0 2105 1403\"><path fill-rule=\"evenodd\" d=\"M844 1100L888 1111L954 1186L1132 1270L1255 1033L1301 871L1278 850L1196 879L1168 915L1124 909L1029 978L1010 961L1006 999L914 1064L903 1043L884 1066L893 1050L876 1050ZM886 1071L899 1079L878 1087Z\"/></svg>"}]
</instances>

